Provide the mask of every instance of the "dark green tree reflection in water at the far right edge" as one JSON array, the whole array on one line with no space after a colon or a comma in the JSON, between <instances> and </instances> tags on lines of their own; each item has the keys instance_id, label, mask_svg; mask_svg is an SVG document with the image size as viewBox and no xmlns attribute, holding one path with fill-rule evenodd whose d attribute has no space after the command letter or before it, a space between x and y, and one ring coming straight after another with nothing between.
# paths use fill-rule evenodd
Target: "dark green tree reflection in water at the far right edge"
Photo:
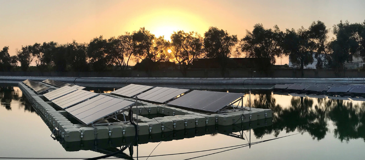
<instances>
[{"instance_id":1,"label":"dark green tree reflection in water at the far right edge","mask_svg":"<svg viewBox=\"0 0 365 160\"><path fill-rule=\"evenodd\" d=\"M365 102L353 105L342 100L331 99L327 103L330 106L328 117L334 122L334 134L339 140L349 142L350 139L365 139Z\"/></svg>"}]
</instances>

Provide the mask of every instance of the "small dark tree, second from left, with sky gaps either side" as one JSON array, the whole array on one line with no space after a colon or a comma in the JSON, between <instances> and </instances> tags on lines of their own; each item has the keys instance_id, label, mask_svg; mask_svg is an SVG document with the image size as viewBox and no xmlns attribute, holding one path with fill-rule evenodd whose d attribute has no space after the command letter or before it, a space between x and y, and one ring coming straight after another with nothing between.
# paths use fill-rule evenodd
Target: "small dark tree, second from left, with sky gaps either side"
<instances>
[{"instance_id":1,"label":"small dark tree, second from left, with sky gaps either side","mask_svg":"<svg viewBox=\"0 0 365 160\"><path fill-rule=\"evenodd\" d=\"M22 46L21 50L16 51L16 56L20 62L20 69L22 71L27 71L30 63L32 63L34 56L31 54L32 46Z\"/></svg>"}]
</instances>

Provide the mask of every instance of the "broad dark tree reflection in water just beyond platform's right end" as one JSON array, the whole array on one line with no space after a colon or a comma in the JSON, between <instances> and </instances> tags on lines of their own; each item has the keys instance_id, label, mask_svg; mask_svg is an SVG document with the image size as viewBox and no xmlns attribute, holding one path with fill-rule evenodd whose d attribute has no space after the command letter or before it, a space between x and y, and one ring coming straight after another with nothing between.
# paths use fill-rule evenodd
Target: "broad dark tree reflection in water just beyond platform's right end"
<instances>
[{"instance_id":1,"label":"broad dark tree reflection in water just beyond platform's right end","mask_svg":"<svg viewBox=\"0 0 365 160\"><path fill-rule=\"evenodd\" d=\"M267 94L262 97L266 98L265 103L268 103ZM272 99L270 98L269 102L275 102ZM260 100L256 102L262 104ZM256 106L260 108L260 105ZM269 106L275 106L275 104ZM276 106L280 108L279 105ZM292 97L290 108L276 109L276 115L273 114L273 124L265 127L265 130L262 128L254 129L255 136L262 137L265 133L271 134L272 132L274 132L274 136L278 136L280 131L283 130L287 133L297 130L299 132L308 132L313 139L323 139L328 131L325 120L326 109L323 110L317 105L314 108L312 106L313 100L310 98Z\"/></svg>"}]
</instances>

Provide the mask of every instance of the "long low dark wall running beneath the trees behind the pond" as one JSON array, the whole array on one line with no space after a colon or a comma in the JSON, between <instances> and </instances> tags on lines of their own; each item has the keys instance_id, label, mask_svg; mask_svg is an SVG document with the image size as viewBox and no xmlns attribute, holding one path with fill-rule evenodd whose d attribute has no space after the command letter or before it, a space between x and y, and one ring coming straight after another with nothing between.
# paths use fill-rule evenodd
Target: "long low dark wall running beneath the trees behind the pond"
<instances>
[{"instance_id":1,"label":"long low dark wall running beneath the trees behind the pond","mask_svg":"<svg viewBox=\"0 0 365 160\"><path fill-rule=\"evenodd\" d=\"M0 72L0 76L22 77L184 77L180 70L158 70L146 73L144 71L104 71L104 72ZM189 78L220 78L219 69L191 69L187 71ZM255 69L228 69L226 78L300 78L299 69L275 69L259 71ZM365 70L330 70L330 69L305 69L304 78L364 78Z\"/></svg>"}]
</instances>

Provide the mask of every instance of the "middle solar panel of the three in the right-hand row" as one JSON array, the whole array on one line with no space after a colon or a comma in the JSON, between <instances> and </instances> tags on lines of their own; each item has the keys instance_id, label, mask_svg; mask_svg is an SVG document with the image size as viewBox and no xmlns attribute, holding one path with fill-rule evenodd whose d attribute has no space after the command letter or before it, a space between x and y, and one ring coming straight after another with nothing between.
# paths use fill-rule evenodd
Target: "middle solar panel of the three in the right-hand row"
<instances>
[{"instance_id":1,"label":"middle solar panel of the three in the right-hand row","mask_svg":"<svg viewBox=\"0 0 365 160\"><path fill-rule=\"evenodd\" d=\"M145 101L152 101L158 103L165 103L170 99L177 97L180 94L189 91L188 89L177 89L167 87L155 87L145 93L139 94L138 98Z\"/></svg>"}]
</instances>

